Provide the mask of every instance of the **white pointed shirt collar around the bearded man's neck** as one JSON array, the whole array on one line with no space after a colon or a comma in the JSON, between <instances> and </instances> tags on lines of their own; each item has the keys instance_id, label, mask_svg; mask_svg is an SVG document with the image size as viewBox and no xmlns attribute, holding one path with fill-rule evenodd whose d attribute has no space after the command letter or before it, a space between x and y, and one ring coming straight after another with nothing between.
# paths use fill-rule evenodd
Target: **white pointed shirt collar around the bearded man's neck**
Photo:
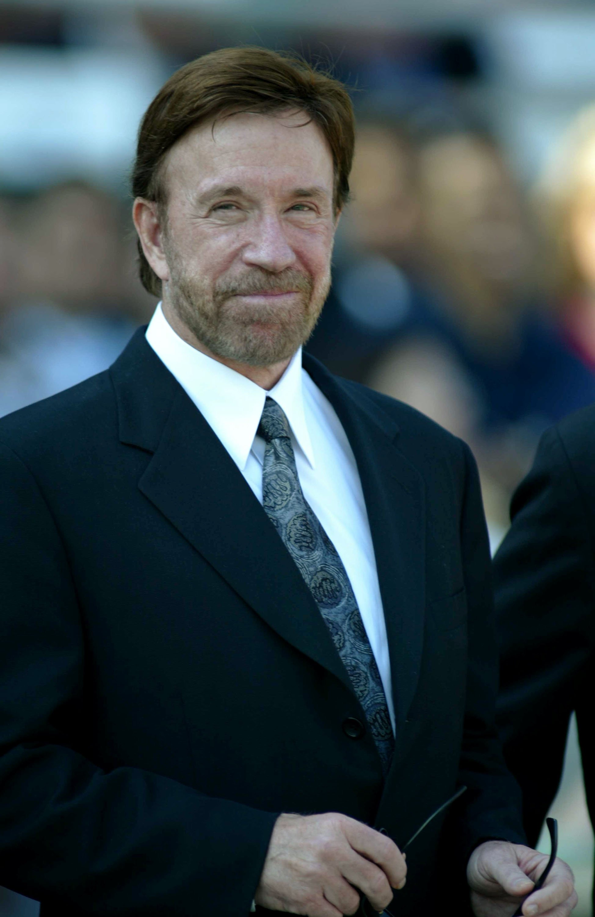
<instances>
[{"instance_id":1,"label":"white pointed shirt collar around the bearded man's neck","mask_svg":"<svg viewBox=\"0 0 595 917\"><path fill-rule=\"evenodd\" d=\"M160 303L146 329L146 341L196 404L241 471L250 455L267 394L285 412L298 447L314 467L304 413L301 348L274 388L266 392L182 340L169 325Z\"/></svg>"}]
</instances>

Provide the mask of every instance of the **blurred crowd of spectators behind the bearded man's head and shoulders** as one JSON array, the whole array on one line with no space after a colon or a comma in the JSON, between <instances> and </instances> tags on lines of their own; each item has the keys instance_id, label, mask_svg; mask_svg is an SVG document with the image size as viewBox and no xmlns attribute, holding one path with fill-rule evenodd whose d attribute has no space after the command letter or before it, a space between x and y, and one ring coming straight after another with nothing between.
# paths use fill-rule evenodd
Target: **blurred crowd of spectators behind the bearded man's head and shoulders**
<instances>
[{"instance_id":1,"label":"blurred crowd of spectators behind the bearded man's head and shoulders","mask_svg":"<svg viewBox=\"0 0 595 917\"><path fill-rule=\"evenodd\" d=\"M103 370L150 317L129 210L77 180L0 198L0 414ZM471 444L495 547L538 436L595 401L595 107L523 189L481 128L362 110L308 348Z\"/></svg>"}]
</instances>

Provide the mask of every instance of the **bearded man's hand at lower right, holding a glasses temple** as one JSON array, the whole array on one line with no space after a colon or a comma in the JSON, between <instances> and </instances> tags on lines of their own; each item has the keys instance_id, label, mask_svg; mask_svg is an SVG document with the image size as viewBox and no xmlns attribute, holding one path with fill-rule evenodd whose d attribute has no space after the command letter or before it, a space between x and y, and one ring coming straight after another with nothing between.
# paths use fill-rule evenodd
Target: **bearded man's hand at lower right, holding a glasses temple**
<instances>
[{"instance_id":1,"label":"bearded man's hand at lower right, holding a glasses temple","mask_svg":"<svg viewBox=\"0 0 595 917\"><path fill-rule=\"evenodd\" d=\"M531 892L547 860L546 854L506 841L476 847L467 866L473 912L477 917L510 917ZM525 901L523 913L525 917L568 917L577 901L572 871L557 859L543 888Z\"/></svg>"}]
</instances>

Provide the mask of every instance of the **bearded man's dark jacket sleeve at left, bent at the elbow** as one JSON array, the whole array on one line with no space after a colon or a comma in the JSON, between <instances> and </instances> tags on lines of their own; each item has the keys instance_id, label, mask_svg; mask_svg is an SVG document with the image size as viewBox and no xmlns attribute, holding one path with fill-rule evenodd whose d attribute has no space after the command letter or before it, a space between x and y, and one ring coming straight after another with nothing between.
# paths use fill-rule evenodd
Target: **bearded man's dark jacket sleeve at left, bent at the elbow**
<instances>
[{"instance_id":1,"label":"bearded man's dark jacket sleeve at left, bent at the elbow","mask_svg":"<svg viewBox=\"0 0 595 917\"><path fill-rule=\"evenodd\" d=\"M85 915L247 914L276 813L72 747L77 596L48 504L2 446L0 569L0 883Z\"/></svg>"}]
</instances>

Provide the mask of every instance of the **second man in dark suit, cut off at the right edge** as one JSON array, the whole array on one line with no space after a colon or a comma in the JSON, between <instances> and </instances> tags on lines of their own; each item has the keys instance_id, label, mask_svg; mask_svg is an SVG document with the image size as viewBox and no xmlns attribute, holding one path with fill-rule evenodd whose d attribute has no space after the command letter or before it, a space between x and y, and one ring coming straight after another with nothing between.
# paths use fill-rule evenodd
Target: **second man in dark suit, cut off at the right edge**
<instances>
[{"instance_id":1,"label":"second man in dark suit, cut off at the right edge","mask_svg":"<svg viewBox=\"0 0 595 917\"><path fill-rule=\"evenodd\" d=\"M595 823L594 460L595 407L547 430L514 494L513 525L494 559L502 640L499 721L532 844L557 793L573 712Z\"/></svg>"}]
</instances>

